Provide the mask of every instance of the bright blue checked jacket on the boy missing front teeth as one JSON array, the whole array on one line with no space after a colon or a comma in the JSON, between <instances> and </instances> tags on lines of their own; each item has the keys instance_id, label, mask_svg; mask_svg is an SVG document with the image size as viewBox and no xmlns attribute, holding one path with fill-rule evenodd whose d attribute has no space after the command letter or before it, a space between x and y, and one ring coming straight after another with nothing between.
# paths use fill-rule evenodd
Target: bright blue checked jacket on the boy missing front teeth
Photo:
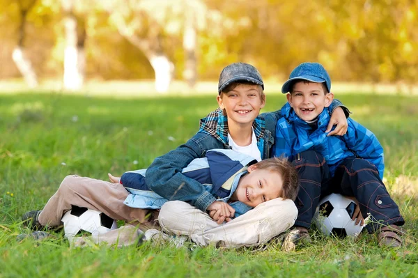
<instances>
[{"instance_id":1,"label":"bright blue checked jacket on the boy missing front teeth","mask_svg":"<svg viewBox=\"0 0 418 278\"><path fill-rule=\"evenodd\" d=\"M288 102L281 108L281 113L283 118L277 121L273 147L275 156L284 154L293 159L297 153L315 150L325 158L332 176L336 167L346 157L362 157L373 163L379 171L380 178L383 178L383 148L376 136L364 126L348 118L348 130L345 135L327 137L325 130L330 122L327 108L319 114L316 129L299 118Z\"/></svg>"}]
</instances>

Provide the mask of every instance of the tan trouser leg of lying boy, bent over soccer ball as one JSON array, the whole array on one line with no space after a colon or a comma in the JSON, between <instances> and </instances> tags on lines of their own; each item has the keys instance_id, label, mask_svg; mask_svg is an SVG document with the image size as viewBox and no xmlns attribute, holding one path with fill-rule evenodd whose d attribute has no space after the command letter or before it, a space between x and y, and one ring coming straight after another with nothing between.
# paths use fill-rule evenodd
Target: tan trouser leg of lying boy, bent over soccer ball
<instances>
[{"instance_id":1,"label":"tan trouser leg of lying boy, bent over soccer ball","mask_svg":"<svg viewBox=\"0 0 418 278\"><path fill-rule=\"evenodd\" d=\"M120 183L109 183L104 180L66 176L39 215L43 226L59 226L63 214L71 205L99 210L116 220L125 220L139 224L141 229L149 229L157 224L155 210L130 208L125 201L129 193Z\"/></svg>"}]
</instances>

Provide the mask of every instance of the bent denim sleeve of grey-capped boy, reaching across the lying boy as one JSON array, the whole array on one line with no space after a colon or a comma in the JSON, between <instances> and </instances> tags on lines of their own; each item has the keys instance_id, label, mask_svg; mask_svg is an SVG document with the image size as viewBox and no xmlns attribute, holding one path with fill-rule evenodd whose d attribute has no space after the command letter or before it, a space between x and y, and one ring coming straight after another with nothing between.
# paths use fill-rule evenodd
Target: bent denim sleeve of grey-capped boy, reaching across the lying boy
<instances>
[{"instance_id":1,"label":"bent denim sleeve of grey-capped boy, reaching across the lying boy","mask_svg":"<svg viewBox=\"0 0 418 278\"><path fill-rule=\"evenodd\" d=\"M203 157L206 150L222 148L209 134L197 133L185 144L157 157L146 171L146 184L153 192L170 201L187 201L192 206L206 211L216 201L205 187L181 173L195 158Z\"/></svg>"}]
</instances>

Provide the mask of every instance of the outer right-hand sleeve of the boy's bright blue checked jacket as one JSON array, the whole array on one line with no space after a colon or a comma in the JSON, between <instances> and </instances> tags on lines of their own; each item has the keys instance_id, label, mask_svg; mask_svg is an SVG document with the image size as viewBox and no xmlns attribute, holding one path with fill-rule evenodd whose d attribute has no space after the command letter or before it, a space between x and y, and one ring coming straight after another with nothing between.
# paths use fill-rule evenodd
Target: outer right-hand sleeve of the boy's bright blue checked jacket
<instances>
[{"instance_id":1,"label":"outer right-hand sleeve of the boy's bright blue checked jacket","mask_svg":"<svg viewBox=\"0 0 418 278\"><path fill-rule=\"evenodd\" d=\"M348 148L354 150L359 157L373 163L379 171L380 178L383 178L383 171L385 171L383 148L376 135L348 118L348 130L344 139Z\"/></svg>"}]
</instances>

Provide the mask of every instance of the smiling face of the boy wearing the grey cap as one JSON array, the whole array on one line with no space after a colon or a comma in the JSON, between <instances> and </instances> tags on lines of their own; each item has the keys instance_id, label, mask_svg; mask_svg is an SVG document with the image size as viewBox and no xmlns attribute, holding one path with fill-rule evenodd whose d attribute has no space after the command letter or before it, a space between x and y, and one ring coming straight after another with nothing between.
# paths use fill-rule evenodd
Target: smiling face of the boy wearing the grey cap
<instances>
[{"instance_id":1,"label":"smiling face of the boy wearing the grey cap","mask_svg":"<svg viewBox=\"0 0 418 278\"><path fill-rule=\"evenodd\" d=\"M239 84L228 93L217 96L221 109L225 109L228 124L242 125L254 121L264 107L265 100L261 98L262 89L259 85Z\"/></svg>"}]
</instances>

